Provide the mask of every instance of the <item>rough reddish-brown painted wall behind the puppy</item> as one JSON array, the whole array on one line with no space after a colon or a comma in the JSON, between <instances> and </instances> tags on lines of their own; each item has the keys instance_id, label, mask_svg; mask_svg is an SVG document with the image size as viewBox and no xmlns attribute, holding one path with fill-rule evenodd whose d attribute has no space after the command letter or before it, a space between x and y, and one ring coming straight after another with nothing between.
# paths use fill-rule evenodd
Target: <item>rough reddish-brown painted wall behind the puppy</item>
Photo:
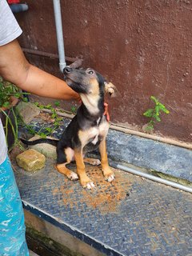
<instances>
[{"instance_id":1,"label":"rough reddish-brown painted wall behind the puppy","mask_svg":"<svg viewBox=\"0 0 192 256\"><path fill-rule=\"evenodd\" d=\"M51 0L27 0L18 14L21 45L57 54ZM141 128L154 95L170 110L156 132L191 142L192 2L186 0L61 0L66 56L83 55L83 66L101 72L118 87L111 119ZM58 61L30 62L59 75Z\"/></svg>"}]
</instances>

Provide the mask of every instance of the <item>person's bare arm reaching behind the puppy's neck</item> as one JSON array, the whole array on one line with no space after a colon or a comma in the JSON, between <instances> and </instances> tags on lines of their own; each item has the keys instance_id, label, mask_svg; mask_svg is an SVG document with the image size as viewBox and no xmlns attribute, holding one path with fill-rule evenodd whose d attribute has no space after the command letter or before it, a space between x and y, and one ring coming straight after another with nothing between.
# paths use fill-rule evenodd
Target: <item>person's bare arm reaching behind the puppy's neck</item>
<instances>
[{"instance_id":1,"label":"person's bare arm reaching behind the puppy's neck","mask_svg":"<svg viewBox=\"0 0 192 256\"><path fill-rule=\"evenodd\" d=\"M17 40L0 46L0 75L32 94L66 100L80 99L66 82L30 65Z\"/></svg>"}]
</instances>

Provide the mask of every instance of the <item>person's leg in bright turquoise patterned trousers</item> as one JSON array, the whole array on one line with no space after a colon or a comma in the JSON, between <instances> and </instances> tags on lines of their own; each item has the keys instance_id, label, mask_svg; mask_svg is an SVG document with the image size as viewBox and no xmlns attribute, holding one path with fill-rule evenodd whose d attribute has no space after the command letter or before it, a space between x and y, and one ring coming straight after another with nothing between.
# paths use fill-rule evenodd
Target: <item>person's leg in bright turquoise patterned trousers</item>
<instances>
[{"instance_id":1,"label":"person's leg in bright turquoise patterned trousers","mask_svg":"<svg viewBox=\"0 0 192 256\"><path fill-rule=\"evenodd\" d=\"M22 200L7 157L0 165L0 255L28 256Z\"/></svg>"}]
</instances>

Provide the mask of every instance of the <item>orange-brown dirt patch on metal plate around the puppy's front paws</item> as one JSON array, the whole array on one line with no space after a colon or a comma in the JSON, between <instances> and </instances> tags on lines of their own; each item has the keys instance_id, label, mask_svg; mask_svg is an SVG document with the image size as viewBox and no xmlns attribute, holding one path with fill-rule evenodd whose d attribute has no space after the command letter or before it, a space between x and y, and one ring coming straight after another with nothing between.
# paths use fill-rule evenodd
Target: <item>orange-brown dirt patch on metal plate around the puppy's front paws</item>
<instances>
[{"instance_id":1,"label":"orange-brown dirt patch on metal plate around the puppy's front paws","mask_svg":"<svg viewBox=\"0 0 192 256\"><path fill-rule=\"evenodd\" d=\"M131 182L125 179L123 173L119 170L114 170L114 182L106 182L100 166L86 165L86 174L92 179L96 186L94 190L78 189L79 202L81 202L81 204L85 203L86 206L93 209L98 208L102 214L117 212L118 206L122 200L129 196ZM54 188L52 192L53 195L62 194L62 198L59 199L60 205L68 204L73 208L75 205L78 206L78 202L77 199L74 198L76 186L69 187L71 182L72 181L66 179L62 186ZM78 186L81 186L79 182Z\"/></svg>"}]
</instances>

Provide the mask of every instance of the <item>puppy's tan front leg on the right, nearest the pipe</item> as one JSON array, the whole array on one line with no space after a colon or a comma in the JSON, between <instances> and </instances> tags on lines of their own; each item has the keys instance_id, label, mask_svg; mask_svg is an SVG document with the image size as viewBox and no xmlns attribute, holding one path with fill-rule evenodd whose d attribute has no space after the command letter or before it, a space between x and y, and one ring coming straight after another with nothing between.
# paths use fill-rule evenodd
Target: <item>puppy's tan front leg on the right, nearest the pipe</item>
<instances>
[{"instance_id":1,"label":"puppy's tan front leg on the right, nearest the pipe","mask_svg":"<svg viewBox=\"0 0 192 256\"><path fill-rule=\"evenodd\" d=\"M102 142L99 145L99 152L101 154L101 162L102 162L102 172L103 175L108 182L112 182L114 180L114 173L110 170L110 166L108 163L107 153L106 153L106 138L103 138Z\"/></svg>"}]
</instances>

